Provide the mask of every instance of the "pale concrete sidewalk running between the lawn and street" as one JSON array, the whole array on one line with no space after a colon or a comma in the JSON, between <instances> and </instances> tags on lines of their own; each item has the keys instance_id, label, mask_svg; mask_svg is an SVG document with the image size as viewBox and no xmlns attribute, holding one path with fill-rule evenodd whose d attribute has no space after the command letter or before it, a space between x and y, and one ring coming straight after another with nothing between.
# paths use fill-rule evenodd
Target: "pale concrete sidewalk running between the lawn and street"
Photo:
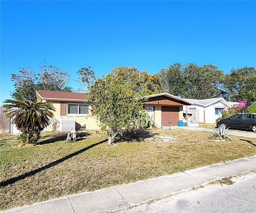
<instances>
[{"instance_id":1,"label":"pale concrete sidewalk running between the lawn and street","mask_svg":"<svg viewBox=\"0 0 256 213\"><path fill-rule=\"evenodd\" d=\"M212 166L31 204L4 212L107 212L256 169L256 155Z\"/></svg>"}]
</instances>

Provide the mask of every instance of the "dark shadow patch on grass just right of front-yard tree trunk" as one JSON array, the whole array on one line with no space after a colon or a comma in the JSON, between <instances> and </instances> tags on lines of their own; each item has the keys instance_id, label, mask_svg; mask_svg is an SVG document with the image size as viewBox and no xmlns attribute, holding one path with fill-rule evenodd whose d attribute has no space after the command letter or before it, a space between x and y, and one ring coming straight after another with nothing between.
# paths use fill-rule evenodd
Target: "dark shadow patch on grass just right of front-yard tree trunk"
<instances>
[{"instance_id":1,"label":"dark shadow patch on grass just right of front-yard tree trunk","mask_svg":"<svg viewBox=\"0 0 256 213\"><path fill-rule=\"evenodd\" d=\"M141 142L145 139L154 138L154 136L159 135L158 133L153 133L149 130L137 130L131 132L125 132L122 136L120 136L116 142Z\"/></svg>"}]
</instances>

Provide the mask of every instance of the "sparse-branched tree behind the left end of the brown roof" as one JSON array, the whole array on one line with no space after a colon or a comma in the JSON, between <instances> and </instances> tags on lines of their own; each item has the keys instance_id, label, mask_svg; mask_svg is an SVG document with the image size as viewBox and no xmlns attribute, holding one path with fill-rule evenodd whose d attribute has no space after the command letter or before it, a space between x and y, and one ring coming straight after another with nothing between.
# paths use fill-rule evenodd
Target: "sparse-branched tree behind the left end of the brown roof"
<instances>
[{"instance_id":1,"label":"sparse-branched tree behind the left end of the brown roof","mask_svg":"<svg viewBox=\"0 0 256 213\"><path fill-rule=\"evenodd\" d=\"M67 86L69 73L60 71L58 68L47 65L46 61L36 73L30 68L19 68L19 73L11 74L11 79L15 91L12 93L13 99L36 102L36 90L49 91L71 91Z\"/></svg>"}]
</instances>

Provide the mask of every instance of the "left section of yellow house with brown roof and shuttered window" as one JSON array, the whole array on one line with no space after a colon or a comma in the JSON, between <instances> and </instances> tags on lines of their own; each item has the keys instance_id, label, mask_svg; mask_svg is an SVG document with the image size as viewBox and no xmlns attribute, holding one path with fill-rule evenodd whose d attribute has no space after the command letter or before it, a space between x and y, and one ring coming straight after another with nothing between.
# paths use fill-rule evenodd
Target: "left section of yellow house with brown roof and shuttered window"
<instances>
[{"instance_id":1,"label":"left section of yellow house with brown roof and shuttered window","mask_svg":"<svg viewBox=\"0 0 256 213\"><path fill-rule=\"evenodd\" d=\"M76 130L99 129L96 119L92 115L91 106L87 104L86 93L36 91L38 102L51 101L55 107L53 121L61 125L61 118L75 119ZM53 123L46 129L52 130ZM60 129L57 129L60 130Z\"/></svg>"}]
</instances>

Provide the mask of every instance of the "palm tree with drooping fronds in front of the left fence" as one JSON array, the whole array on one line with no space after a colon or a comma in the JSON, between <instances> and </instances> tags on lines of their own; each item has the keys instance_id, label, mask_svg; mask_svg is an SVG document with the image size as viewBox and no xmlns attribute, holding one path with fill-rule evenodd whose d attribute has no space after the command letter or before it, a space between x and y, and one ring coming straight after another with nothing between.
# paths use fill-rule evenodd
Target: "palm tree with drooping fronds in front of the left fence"
<instances>
[{"instance_id":1,"label":"palm tree with drooping fronds in front of the left fence","mask_svg":"<svg viewBox=\"0 0 256 213\"><path fill-rule=\"evenodd\" d=\"M54 106L50 102L29 102L20 100L5 100L6 118L11 119L22 133L23 143L35 144L42 130L50 124Z\"/></svg>"}]
</instances>

